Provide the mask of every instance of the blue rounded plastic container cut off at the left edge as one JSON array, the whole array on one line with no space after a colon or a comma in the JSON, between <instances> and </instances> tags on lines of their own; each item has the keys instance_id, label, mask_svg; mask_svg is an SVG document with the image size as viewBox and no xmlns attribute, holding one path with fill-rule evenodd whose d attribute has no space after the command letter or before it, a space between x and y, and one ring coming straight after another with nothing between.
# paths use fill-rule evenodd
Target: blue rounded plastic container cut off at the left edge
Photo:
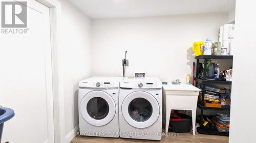
<instances>
[{"instance_id":1,"label":"blue rounded plastic container cut off at the left edge","mask_svg":"<svg viewBox=\"0 0 256 143\"><path fill-rule=\"evenodd\" d=\"M4 123L14 117L14 111L10 108L0 108L0 142L2 139Z\"/></svg>"}]
</instances>

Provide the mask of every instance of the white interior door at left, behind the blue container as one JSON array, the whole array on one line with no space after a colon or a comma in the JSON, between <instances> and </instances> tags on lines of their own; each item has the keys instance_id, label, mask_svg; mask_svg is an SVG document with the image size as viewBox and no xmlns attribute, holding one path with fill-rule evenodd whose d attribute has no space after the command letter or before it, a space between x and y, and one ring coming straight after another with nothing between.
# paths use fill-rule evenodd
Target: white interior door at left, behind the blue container
<instances>
[{"instance_id":1,"label":"white interior door at left, behind the blue container","mask_svg":"<svg viewBox=\"0 0 256 143\"><path fill-rule=\"evenodd\" d=\"M0 35L0 105L13 108L2 142L54 142L49 8L28 2L28 34Z\"/></svg>"}]
</instances>

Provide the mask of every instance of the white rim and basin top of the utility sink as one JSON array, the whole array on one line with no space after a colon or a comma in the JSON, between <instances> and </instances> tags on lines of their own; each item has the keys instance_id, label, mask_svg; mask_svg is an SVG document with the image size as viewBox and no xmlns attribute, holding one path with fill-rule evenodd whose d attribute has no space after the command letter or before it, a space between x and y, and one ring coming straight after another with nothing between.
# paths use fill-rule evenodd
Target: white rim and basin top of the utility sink
<instances>
[{"instance_id":1,"label":"white rim and basin top of the utility sink","mask_svg":"<svg viewBox=\"0 0 256 143\"><path fill-rule=\"evenodd\" d=\"M200 89L196 88L192 84L165 84L163 85L164 90L167 91L201 91Z\"/></svg>"}]
</instances>

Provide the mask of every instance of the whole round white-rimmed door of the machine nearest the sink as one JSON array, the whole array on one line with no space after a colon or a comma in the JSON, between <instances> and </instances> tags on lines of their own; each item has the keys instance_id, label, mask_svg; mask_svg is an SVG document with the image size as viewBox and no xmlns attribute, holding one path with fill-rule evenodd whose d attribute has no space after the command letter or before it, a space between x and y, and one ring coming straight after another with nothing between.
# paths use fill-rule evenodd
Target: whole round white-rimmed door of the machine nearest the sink
<instances>
[{"instance_id":1,"label":"whole round white-rimmed door of the machine nearest the sink","mask_svg":"<svg viewBox=\"0 0 256 143\"><path fill-rule=\"evenodd\" d=\"M150 127L157 121L160 114L156 98L143 91L127 95L121 110L125 121L136 128Z\"/></svg>"}]
</instances>

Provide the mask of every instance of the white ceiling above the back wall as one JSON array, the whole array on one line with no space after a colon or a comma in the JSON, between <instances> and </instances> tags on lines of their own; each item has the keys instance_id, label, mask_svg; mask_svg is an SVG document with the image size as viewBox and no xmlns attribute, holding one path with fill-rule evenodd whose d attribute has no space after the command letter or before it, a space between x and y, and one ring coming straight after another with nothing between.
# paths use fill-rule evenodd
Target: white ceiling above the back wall
<instances>
[{"instance_id":1,"label":"white ceiling above the back wall","mask_svg":"<svg viewBox=\"0 0 256 143\"><path fill-rule=\"evenodd\" d=\"M91 18L229 12L235 0L68 0Z\"/></svg>"}]
</instances>

